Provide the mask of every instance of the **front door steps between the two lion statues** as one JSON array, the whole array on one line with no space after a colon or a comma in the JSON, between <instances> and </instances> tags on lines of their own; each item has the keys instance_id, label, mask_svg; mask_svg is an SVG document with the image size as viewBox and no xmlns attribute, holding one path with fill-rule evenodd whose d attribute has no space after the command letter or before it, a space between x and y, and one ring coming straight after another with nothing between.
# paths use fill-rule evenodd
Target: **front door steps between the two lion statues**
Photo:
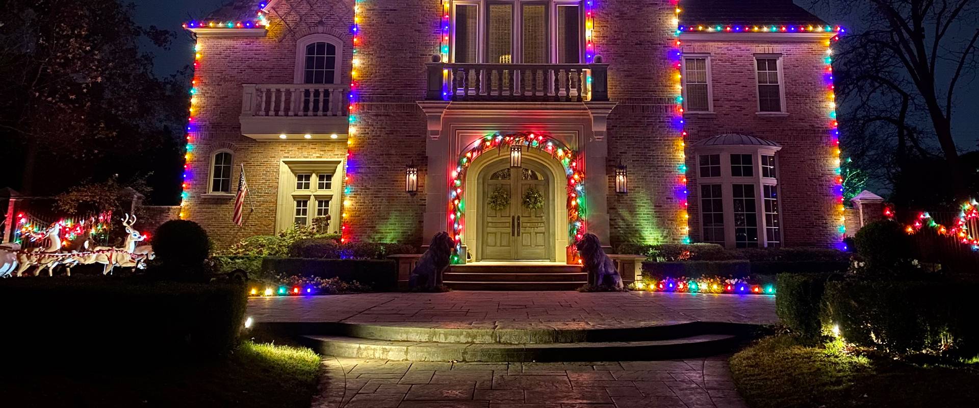
<instances>
[{"instance_id":1,"label":"front door steps between the two lion statues","mask_svg":"<svg viewBox=\"0 0 979 408\"><path fill-rule=\"evenodd\" d=\"M470 263L443 275L456 291L574 291L587 282L581 266L560 263Z\"/></svg>"}]
</instances>

